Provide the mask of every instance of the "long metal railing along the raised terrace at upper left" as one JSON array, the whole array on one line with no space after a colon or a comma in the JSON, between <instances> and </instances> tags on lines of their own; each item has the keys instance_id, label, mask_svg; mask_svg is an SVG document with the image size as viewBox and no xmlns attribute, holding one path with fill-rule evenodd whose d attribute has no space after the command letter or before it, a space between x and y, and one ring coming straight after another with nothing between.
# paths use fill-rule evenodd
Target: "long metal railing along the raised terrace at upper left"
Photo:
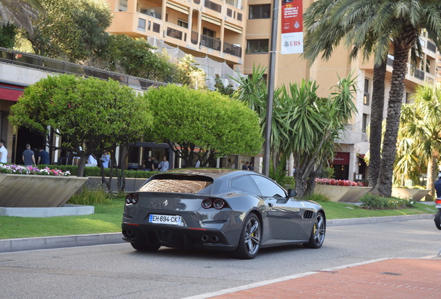
<instances>
[{"instance_id":1,"label":"long metal railing along the raised terrace at upper left","mask_svg":"<svg viewBox=\"0 0 441 299\"><path fill-rule=\"evenodd\" d=\"M53 58L43 57L31 53L24 53L1 47L0 47L0 62L6 62L8 64L15 64L19 66L26 66L32 69L40 69L42 71L50 71L53 73L71 73L75 75L83 75L85 77L100 78L103 80L113 79L119 81L121 84L125 84L130 87L135 87L137 89L144 89L144 90L148 89L149 87L166 85L165 82L134 77L123 73L115 73L112 71L105 71L102 69L95 69L81 64L74 64L72 62L55 60Z\"/></svg>"}]
</instances>

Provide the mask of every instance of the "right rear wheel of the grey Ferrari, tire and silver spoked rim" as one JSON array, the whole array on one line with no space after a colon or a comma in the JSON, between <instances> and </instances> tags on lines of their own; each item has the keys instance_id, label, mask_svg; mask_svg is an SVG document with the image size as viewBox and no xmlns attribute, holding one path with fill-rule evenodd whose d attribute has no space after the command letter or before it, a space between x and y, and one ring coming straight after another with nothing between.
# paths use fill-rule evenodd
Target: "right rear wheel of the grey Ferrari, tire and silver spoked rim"
<instances>
[{"instance_id":1,"label":"right rear wheel of the grey Ferrari, tire and silver spoked rim","mask_svg":"<svg viewBox=\"0 0 441 299\"><path fill-rule=\"evenodd\" d=\"M239 245L234 252L236 257L251 260L259 253L262 228L259 217L254 213L248 215L239 238Z\"/></svg>"}]
</instances>

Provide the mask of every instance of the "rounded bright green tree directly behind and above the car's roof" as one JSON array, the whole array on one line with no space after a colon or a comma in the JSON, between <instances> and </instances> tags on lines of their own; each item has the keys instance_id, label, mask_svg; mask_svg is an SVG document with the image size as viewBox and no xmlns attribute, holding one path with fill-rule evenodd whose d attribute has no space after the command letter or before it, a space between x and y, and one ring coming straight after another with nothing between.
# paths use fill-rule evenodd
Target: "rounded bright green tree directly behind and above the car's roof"
<instances>
[{"instance_id":1,"label":"rounded bright green tree directly behind and above the car's roof","mask_svg":"<svg viewBox=\"0 0 441 299\"><path fill-rule=\"evenodd\" d=\"M251 109L216 91L169 84L146 93L153 114L152 138L166 142L192 167L218 156L257 154L262 146L259 120Z\"/></svg>"}]
</instances>

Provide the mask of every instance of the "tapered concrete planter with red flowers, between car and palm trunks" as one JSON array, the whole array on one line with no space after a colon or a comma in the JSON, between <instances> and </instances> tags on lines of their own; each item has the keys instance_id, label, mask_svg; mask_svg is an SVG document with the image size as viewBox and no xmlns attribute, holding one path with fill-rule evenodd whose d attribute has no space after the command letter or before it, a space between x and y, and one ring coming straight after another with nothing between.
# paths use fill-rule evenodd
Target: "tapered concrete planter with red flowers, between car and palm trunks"
<instances>
[{"instance_id":1,"label":"tapered concrete planter with red flowers, between car and palm trunks","mask_svg":"<svg viewBox=\"0 0 441 299\"><path fill-rule=\"evenodd\" d=\"M315 193L323 194L329 198L330 201L342 202L359 202L364 194L369 192L370 187L354 187L341 185L315 185Z\"/></svg>"}]
</instances>

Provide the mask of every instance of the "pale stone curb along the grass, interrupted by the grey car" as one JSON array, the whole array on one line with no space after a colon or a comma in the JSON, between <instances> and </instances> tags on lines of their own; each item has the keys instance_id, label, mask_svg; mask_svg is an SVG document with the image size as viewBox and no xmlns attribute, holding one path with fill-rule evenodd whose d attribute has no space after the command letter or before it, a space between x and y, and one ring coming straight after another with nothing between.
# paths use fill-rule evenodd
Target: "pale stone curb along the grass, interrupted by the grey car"
<instances>
[{"instance_id":1,"label":"pale stone curb along the grass, interrupted by the grey car","mask_svg":"<svg viewBox=\"0 0 441 299\"><path fill-rule=\"evenodd\" d=\"M433 219L434 214L402 215L389 217L368 217L327 220L327 226L348 226L356 224L376 224L392 221L409 221L417 219ZM125 243L122 233L103 233L90 235L68 235L54 237L31 237L17 239L0 239L0 253L32 251L76 246L92 246Z\"/></svg>"}]
</instances>

